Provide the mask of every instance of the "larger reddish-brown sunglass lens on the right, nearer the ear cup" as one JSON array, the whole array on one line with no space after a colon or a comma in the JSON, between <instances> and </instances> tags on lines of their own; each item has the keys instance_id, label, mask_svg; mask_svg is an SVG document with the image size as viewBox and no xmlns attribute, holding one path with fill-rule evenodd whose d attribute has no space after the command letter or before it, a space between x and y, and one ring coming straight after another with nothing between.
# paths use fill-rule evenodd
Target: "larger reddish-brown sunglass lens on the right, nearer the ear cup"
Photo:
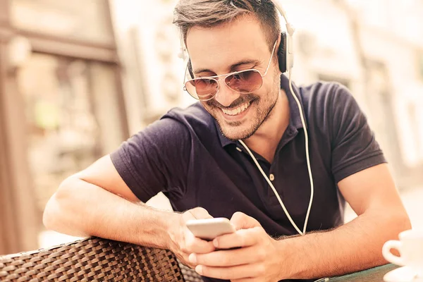
<instances>
[{"instance_id":1,"label":"larger reddish-brown sunglass lens on the right, nearer the ear cup","mask_svg":"<svg viewBox=\"0 0 423 282\"><path fill-rule=\"evenodd\" d=\"M262 75L258 71L240 71L225 79L226 85L236 92L251 93L262 87Z\"/></svg>"}]
</instances>

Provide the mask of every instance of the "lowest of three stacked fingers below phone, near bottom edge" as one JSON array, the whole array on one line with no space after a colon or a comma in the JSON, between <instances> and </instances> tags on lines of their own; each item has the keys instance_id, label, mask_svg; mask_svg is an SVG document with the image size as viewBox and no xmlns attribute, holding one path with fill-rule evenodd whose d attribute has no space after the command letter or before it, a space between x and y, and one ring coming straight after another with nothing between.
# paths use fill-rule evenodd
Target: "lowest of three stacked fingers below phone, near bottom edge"
<instances>
[{"instance_id":1,"label":"lowest of three stacked fingers below phone, near bottom edge","mask_svg":"<svg viewBox=\"0 0 423 282\"><path fill-rule=\"evenodd\" d=\"M219 279L241 279L264 276L265 268L263 264L244 264L240 266L215 267L215 266L195 266L195 271L202 276Z\"/></svg>"}]
</instances>

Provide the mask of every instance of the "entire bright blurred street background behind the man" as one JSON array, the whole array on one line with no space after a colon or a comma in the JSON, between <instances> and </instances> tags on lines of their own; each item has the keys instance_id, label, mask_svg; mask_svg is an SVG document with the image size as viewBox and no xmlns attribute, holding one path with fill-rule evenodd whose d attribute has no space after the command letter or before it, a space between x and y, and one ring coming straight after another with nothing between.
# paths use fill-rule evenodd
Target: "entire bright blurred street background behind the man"
<instances>
[{"instance_id":1,"label":"entire bright blurred street background behind the man","mask_svg":"<svg viewBox=\"0 0 423 282\"><path fill-rule=\"evenodd\" d=\"M74 240L42 226L61 180L195 102L182 90L175 4L0 0L0 254ZM423 0L282 4L297 27L295 82L353 92L423 228ZM149 204L169 208L163 195Z\"/></svg>"}]
</instances>

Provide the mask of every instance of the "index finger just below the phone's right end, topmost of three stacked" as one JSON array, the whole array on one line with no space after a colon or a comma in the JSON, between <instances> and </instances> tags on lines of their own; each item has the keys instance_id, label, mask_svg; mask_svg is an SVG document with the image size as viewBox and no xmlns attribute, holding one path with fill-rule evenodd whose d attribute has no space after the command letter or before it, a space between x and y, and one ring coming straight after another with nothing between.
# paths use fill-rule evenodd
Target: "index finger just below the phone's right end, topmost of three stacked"
<instances>
[{"instance_id":1,"label":"index finger just below the phone's right end, topmost of three stacked","mask_svg":"<svg viewBox=\"0 0 423 282\"><path fill-rule=\"evenodd\" d=\"M221 235L214 238L213 245L218 249L233 247L250 247L259 243L263 235L267 235L262 227L240 229L235 233Z\"/></svg>"}]
</instances>

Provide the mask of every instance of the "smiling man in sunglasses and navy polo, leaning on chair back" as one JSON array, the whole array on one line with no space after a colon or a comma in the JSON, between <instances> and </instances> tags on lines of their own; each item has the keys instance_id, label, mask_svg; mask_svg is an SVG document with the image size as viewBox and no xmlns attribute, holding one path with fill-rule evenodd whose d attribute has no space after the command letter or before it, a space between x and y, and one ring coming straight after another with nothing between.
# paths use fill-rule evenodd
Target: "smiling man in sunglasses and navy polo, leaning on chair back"
<instances>
[{"instance_id":1,"label":"smiling man in sunglasses and navy polo, leaning on chair back","mask_svg":"<svg viewBox=\"0 0 423 282\"><path fill-rule=\"evenodd\" d=\"M294 86L309 131L314 198L307 234L293 236L276 195L237 141L254 152L293 221L304 226L310 200L305 128L278 68L274 5L180 0L175 21L189 72L202 78L189 81L187 90L204 101L169 111L64 180L47 204L44 224L71 235L168 248L209 277L204 281L312 279L384 264L382 245L410 221L348 90L329 83ZM250 69L262 76L258 87L237 91L233 83L241 75L226 74ZM186 212L142 204L159 191L173 209ZM345 225L344 199L358 214ZM207 242L185 226L211 217L231 219L237 231Z\"/></svg>"}]
</instances>

